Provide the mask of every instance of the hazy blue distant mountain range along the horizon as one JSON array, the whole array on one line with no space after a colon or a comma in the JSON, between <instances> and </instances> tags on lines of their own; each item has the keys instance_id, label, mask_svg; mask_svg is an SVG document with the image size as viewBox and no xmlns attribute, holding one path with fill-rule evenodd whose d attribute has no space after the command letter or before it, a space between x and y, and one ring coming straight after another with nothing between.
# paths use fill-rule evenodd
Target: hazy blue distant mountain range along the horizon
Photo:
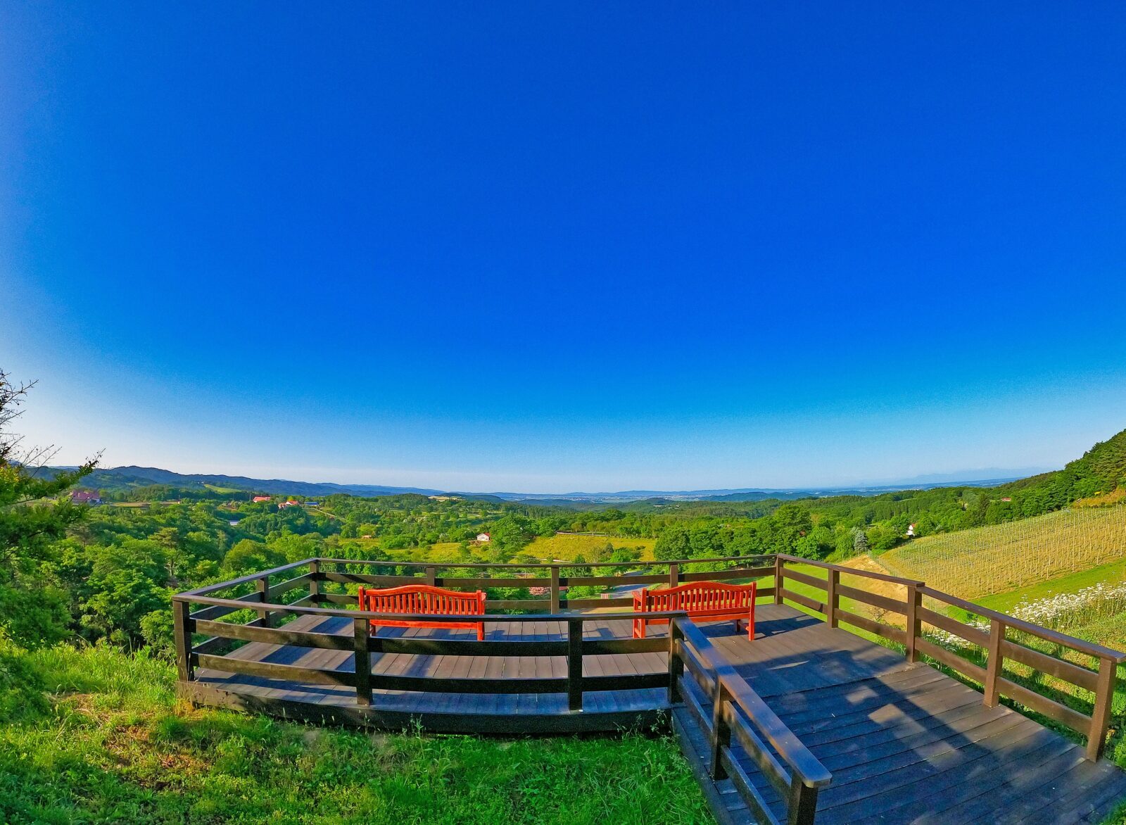
<instances>
[{"instance_id":1,"label":"hazy blue distant mountain range along the horizon","mask_svg":"<svg viewBox=\"0 0 1126 825\"><path fill-rule=\"evenodd\" d=\"M47 468L47 471L59 471L73 468ZM115 467L95 470L83 480L82 486L101 490L128 489L166 485L180 489L221 488L259 493L274 496L328 496L343 493L350 496L393 496L414 493L423 496L462 496L466 498L489 498L504 502L522 502L527 504L560 505L569 504L627 504L641 500L669 502L760 502L766 498L796 499L811 496L877 496L882 493L917 489L919 487L995 487L1008 481L1033 474L1035 470L1004 471L990 470L992 478L982 478L982 472L967 471L966 476L977 476L971 480L950 478L950 474L920 476L900 482L888 482L857 487L807 487L789 489L740 488L714 490L622 490L619 493L464 493L426 489L421 487L387 487L383 485L338 485L324 481L292 481L288 479L260 479L245 476L223 476L205 473L179 473L162 470L157 467Z\"/></svg>"}]
</instances>

